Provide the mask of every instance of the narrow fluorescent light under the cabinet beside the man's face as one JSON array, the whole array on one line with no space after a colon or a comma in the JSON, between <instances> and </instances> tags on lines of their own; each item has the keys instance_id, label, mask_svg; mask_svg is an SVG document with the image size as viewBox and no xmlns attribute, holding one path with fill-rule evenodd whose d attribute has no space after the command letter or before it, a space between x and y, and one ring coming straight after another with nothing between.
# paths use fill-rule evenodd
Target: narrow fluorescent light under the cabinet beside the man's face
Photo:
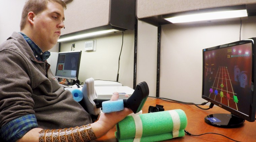
<instances>
[{"instance_id":1,"label":"narrow fluorescent light under the cabinet beside the man's face","mask_svg":"<svg viewBox=\"0 0 256 142\"><path fill-rule=\"evenodd\" d=\"M67 37L67 38L61 38L61 39L58 40L58 42L76 40L76 39L92 37L92 36L96 36L96 35L103 35L103 34L106 34L106 33L111 33L111 32L116 32L116 31L119 31L119 30L111 29L111 30L104 30L104 31L92 32L92 33L86 33L86 34L82 34L82 35L71 36L71 37Z\"/></svg>"}]
</instances>

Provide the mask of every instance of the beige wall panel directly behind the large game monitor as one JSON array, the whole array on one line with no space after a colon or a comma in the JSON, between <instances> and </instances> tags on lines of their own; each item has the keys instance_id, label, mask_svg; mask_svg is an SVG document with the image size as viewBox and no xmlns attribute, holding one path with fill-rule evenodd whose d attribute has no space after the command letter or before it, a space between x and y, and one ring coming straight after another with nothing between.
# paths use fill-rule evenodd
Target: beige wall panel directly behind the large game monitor
<instances>
[{"instance_id":1,"label":"beige wall panel directly behind the large game monitor","mask_svg":"<svg viewBox=\"0 0 256 142\"><path fill-rule=\"evenodd\" d=\"M256 16L242 18L241 39L256 37ZM202 49L239 40L240 21L162 26L160 97L202 103Z\"/></svg>"}]
</instances>

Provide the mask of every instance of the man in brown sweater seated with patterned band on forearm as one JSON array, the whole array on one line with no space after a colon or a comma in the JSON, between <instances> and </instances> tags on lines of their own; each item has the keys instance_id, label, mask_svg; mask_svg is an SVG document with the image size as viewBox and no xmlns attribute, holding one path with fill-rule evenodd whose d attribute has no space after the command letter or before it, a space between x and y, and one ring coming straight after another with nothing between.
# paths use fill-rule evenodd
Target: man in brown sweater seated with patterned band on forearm
<instances>
[{"instance_id":1,"label":"man in brown sweater seated with patterned band on forearm","mask_svg":"<svg viewBox=\"0 0 256 142\"><path fill-rule=\"evenodd\" d=\"M21 32L0 45L0 137L5 141L83 142L101 137L132 113L128 108L103 113L92 123L53 76L46 59L64 28L65 8L61 0L28 0ZM111 100L117 99L114 93Z\"/></svg>"}]
</instances>

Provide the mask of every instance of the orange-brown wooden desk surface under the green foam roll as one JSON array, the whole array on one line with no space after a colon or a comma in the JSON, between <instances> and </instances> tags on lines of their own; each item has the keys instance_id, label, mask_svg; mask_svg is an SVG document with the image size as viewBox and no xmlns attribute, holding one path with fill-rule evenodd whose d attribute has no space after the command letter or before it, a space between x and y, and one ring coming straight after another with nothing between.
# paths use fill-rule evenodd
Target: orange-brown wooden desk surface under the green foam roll
<instances>
[{"instance_id":1,"label":"orange-brown wooden desk surface under the green foam roll","mask_svg":"<svg viewBox=\"0 0 256 142\"><path fill-rule=\"evenodd\" d=\"M208 125L204 122L204 117L213 113L229 113L228 111L214 106L209 110L202 110L194 105L184 105L178 103L171 103L163 101L156 98L148 98L146 103L142 108L143 113L148 113L149 106L156 106L156 104L163 105L165 110L172 109L182 109L185 111L188 119L188 125L186 131L194 135L199 135L207 132L213 132L225 135L231 139L242 141L242 142L253 142L256 141L256 122L247 122L245 121L244 125L239 128L217 128L211 125ZM207 108L207 106L202 106ZM115 138L116 128L111 129L106 135L97 139L95 142L117 142ZM189 136L185 134L184 137L174 138L170 140L165 140L162 142L233 142L223 136L215 134L206 134L202 136Z\"/></svg>"}]
</instances>

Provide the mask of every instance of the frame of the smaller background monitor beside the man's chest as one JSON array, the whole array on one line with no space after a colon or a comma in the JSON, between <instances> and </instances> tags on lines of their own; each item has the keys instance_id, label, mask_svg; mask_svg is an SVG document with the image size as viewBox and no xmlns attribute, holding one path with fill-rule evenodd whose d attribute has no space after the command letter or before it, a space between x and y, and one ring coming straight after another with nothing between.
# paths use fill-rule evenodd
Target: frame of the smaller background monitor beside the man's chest
<instances>
[{"instance_id":1,"label":"frame of the smaller background monitor beside the man's chest","mask_svg":"<svg viewBox=\"0 0 256 142\"><path fill-rule=\"evenodd\" d=\"M79 58L78 58L77 70L76 70L75 78L56 76L57 75L58 62L59 62L59 56L60 56L60 54L63 54L63 53L79 53ZM75 80L75 81L78 80L79 69L80 69L80 62L81 62L81 55L82 55L82 51L81 50L59 52L58 53L57 65L56 65L55 78L71 79L71 80Z\"/></svg>"}]
</instances>

